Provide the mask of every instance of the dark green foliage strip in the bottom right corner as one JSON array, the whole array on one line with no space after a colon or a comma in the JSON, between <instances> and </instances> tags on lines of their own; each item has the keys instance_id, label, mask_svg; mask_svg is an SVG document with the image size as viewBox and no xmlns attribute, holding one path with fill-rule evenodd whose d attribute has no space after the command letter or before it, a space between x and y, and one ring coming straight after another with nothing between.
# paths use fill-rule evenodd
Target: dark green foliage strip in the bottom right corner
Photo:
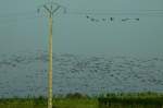
<instances>
[{"instance_id":1,"label":"dark green foliage strip in the bottom right corner","mask_svg":"<svg viewBox=\"0 0 163 108\"><path fill-rule=\"evenodd\" d=\"M106 94L98 98L100 108L162 108L163 94Z\"/></svg>"}]
</instances>

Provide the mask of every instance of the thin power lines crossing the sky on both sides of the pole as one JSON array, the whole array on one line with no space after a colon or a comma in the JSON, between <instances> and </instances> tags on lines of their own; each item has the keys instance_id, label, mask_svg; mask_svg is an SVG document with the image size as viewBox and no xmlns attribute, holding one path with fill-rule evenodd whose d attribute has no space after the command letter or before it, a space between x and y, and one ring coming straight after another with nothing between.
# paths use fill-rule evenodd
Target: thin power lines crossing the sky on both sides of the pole
<instances>
[{"instance_id":1,"label":"thin power lines crossing the sky on both sides of the pole","mask_svg":"<svg viewBox=\"0 0 163 108\"><path fill-rule=\"evenodd\" d=\"M0 19L7 17L18 17L26 15L35 15L36 11L30 10L26 12L12 12L0 14ZM65 14L93 14L93 15L163 15L163 10L76 10L76 9L66 9Z\"/></svg>"}]
</instances>

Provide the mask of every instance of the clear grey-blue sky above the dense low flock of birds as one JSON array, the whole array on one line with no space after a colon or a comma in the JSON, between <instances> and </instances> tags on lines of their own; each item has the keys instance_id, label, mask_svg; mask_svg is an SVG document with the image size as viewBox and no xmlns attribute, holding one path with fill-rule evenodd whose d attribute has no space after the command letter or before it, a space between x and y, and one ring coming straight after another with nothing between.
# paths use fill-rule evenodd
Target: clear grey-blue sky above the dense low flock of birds
<instances>
[{"instance_id":1,"label":"clear grey-blue sky above the dense low flock of birds","mask_svg":"<svg viewBox=\"0 0 163 108\"><path fill-rule=\"evenodd\" d=\"M48 49L48 17L37 8L50 0L0 1L0 53ZM163 0L53 0L67 9L53 16L53 52L104 56L163 56L163 16L68 14L108 10L163 10ZM43 12L42 12L43 13ZM163 13L163 12L162 12ZM114 17L114 22L90 22ZM122 22L139 17L140 21Z\"/></svg>"}]
</instances>

